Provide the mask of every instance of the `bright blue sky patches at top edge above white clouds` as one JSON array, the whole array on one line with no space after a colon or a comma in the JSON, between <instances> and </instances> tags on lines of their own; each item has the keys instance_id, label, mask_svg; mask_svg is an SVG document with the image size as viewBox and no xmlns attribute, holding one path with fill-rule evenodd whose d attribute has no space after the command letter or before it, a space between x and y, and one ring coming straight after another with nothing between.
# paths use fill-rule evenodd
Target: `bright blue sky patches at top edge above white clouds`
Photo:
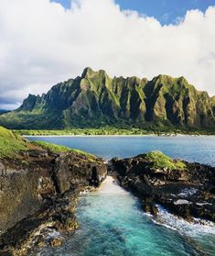
<instances>
[{"instance_id":1,"label":"bright blue sky patches at top edge above white clouds","mask_svg":"<svg viewBox=\"0 0 215 256\"><path fill-rule=\"evenodd\" d=\"M53 0L66 8L70 7L70 0ZM215 6L215 0L115 0L122 9L136 10L149 17L156 17L161 24L175 23L177 17L184 17L190 9L203 12L209 6Z\"/></svg>"}]
</instances>

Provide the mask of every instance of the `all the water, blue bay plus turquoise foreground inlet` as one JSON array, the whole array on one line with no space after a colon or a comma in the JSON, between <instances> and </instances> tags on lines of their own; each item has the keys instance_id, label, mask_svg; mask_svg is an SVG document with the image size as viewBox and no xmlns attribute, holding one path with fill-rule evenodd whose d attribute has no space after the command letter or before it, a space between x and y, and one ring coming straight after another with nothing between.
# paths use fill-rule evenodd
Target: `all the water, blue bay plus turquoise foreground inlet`
<instances>
[{"instance_id":1,"label":"all the water, blue bay plus turquoise foreground inlet","mask_svg":"<svg viewBox=\"0 0 215 256\"><path fill-rule=\"evenodd\" d=\"M32 139L32 138L31 138ZM148 150L215 165L215 137L33 138L90 151L104 158L129 157ZM188 224L160 207L158 217L145 215L138 200L113 181L101 191L81 196L81 227L62 248L43 249L41 256L215 255L215 226Z\"/></svg>"}]
</instances>

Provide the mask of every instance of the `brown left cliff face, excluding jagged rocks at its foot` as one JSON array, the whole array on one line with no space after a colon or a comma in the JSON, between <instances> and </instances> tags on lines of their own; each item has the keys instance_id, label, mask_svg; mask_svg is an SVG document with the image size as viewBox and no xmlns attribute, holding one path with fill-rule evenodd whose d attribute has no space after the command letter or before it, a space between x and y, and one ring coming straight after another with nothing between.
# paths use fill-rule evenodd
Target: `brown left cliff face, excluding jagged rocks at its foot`
<instances>
[{"instance_id":1,"label":"brown left cliff face, excluding jagged rocks at its foot","mask_svg":"<svg viewBox=\"0 0 215 256\"><path fill-rule=\"evenodd\" d=\"M33 157L21 162L0 161L1 233L38 211L45 199L78 186L97 186L106 175L102 161L90 161L81 154L47 156L47 152L41 155L39 150L31 153Z\"/></svg>"}]
</instances>

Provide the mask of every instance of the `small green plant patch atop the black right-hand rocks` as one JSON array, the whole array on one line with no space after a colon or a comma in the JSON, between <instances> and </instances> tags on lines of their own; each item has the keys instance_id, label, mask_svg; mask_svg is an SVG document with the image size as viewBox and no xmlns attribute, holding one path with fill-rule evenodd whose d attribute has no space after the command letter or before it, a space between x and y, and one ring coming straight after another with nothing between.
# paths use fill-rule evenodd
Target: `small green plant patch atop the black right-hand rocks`
<instances>
[{"instance_id":1,"label":"small green plant patch atop the black right-hand rocks","mask_svg":"<svg viewBox=\"0 0 215 256\"><path fill-rule=\"evenodd\" d=\"M146 153L145 159L153 162L153 169L183 170L186 168L186 164L183 161L174 161L161 151Z\"/></svg>"}]
</instances>

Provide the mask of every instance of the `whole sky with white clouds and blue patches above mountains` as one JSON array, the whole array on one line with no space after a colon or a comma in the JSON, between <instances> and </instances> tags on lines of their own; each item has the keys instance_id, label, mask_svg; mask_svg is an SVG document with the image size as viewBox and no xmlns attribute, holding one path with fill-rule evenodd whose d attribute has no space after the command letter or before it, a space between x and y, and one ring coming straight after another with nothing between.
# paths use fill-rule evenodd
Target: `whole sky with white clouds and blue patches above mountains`
<instances>
[{"instance_id":1,"label":"whole sky with white clouds and blue patches above mountains","mask_svg":"<svg viewBox=\"0 0 215 256\"><path fill-rule=\"evenodd\" d=\"M0 109L90 66L215 95L215 0L0 0Z\"/></svg>"}]
</instances>

